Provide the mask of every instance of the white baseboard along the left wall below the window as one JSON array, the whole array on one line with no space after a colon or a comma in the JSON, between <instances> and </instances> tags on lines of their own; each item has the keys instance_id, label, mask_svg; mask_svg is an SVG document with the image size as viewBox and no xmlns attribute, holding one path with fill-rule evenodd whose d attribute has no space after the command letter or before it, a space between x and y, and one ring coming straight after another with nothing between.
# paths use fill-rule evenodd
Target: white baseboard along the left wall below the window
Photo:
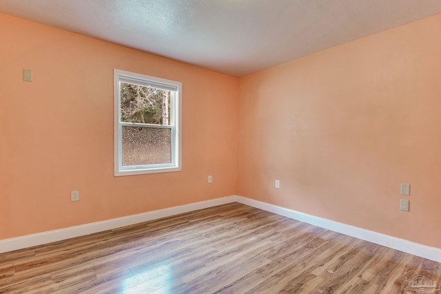
<instances>
[{"instance_id":1,"label":"white baseboard along the left wall below the window","mask_svg":"<svg viewBox=\"0 0 441 294\"><path fill-rule=\"evenodd\" d=\"M122 218L113 218L111 220L103 220L101 222L92 222L90 224L83 224L75 227L68 227L54 231L45 231L43 233L34 233L31 235L24 235L18 238L10 238L0 240L0 253L24 249L32 246L47 244L50 242L57 242L70 238L79 237L81 235L89 235L92 233L99 233L116 229L119 227L130 226L131 224L138 224L140 222L147 222L149 220L156 220L158 218L165 218L167 216L174 216L176 214L204 209L207 207L214 207L220 204L234 202L235 197L216 198L202 202L185 204L177 207L170 207L166 209L159 209L145 213L134 214L132 216L124 216Z\"/></svg>"}]
</instances>

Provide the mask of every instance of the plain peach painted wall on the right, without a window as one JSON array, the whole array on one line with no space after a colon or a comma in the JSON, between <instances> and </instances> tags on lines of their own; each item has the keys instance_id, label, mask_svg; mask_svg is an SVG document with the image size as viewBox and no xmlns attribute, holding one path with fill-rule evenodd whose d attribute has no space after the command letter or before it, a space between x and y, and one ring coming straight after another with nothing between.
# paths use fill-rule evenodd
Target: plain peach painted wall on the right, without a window
<instances>
[{"instance_id":1,"label":"plain peach painted wall on the right, without a window","mask_svg":"<svg viewBox=\"0 0 441 294\"><path fill-rule=\"evenodd\" d=\"M440 32L438 14L240 78L238 195L441 248Z\"/></svg>"}]
</instances>

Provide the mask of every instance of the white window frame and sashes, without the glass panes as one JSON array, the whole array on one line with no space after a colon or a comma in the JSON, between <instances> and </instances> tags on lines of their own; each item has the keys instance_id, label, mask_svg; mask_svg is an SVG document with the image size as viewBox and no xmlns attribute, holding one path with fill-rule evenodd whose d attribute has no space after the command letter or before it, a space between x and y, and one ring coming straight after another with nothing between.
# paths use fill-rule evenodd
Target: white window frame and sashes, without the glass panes
<instances>
[{"instance_id":1,"label":"white window frame and sashes, without the glass panes","mask_svg":"<svg viewBox=\"0 0 441 294\"><path fill-rule=\"evenodd\" d=\"M146 85L163 90L171 90L170 98L170 125L152 125L121 122L121 89L120 82ZM155 174L182 170L181 151L181 89L182 83L165 78L136 74L125 70L114 69L114 176L130 176L139 174ZM174 95L173 95L174 93ZM123 166L123 126L130 127L158 127L169 128L172 132L172 162L154 165L127 165Z\"/></svg>"}]
</instances>

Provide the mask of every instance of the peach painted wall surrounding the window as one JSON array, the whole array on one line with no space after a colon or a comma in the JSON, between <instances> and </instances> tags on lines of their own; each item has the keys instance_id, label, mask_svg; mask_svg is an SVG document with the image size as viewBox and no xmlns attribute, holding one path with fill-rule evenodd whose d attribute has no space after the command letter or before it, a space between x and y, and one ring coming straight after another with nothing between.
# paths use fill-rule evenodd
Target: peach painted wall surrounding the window
<instances>
[{"instance_id":1,"label":"peach painted wall surrounding the window","mask_svg":"<svg viewBox=\"0 0 441 294\"><path fill-rule=\"evenodd\" d=\"M0 40L0 240L236 193L238 78L6 14ZM183 171L114 177L114 68L183 83Z\"/></svg>"}]
</instances>

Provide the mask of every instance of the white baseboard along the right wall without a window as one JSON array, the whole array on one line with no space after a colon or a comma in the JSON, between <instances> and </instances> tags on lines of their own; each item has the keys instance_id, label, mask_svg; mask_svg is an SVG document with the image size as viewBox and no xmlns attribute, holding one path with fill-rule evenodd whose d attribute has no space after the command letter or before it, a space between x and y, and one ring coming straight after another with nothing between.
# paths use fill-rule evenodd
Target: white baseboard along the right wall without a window
<instances>
[{"instance_id":1,"label":"white baseboard along the right wall without a window","mask_svg":"<svg viewBox=\"0 0 441 294\"><path fill-rule=\"evenodd\" d=\"M441 249L439 248L410 242L408 240L396 238L390 235L353 227L349 224L334 222L333 220L327 220L325 218L318 218L307 213L286 209L284 207L278 207L274 204L268 204L266 202L260 202L258 200L253 200L242 196L235 196L235 200L236 202L276 213L280 216L286 216L287 218L299 220L300 222L306 222L307 224L314 224L314 226L316 227L328 229L330 231L342 233L345 235L350 235L354 238L386 246L391 249L396 249L398 251L410 253L412 255L420 256L421 258L427 258L428 260L433 260L435 262L441 262Z\"/></svg>"}]
</instances>

